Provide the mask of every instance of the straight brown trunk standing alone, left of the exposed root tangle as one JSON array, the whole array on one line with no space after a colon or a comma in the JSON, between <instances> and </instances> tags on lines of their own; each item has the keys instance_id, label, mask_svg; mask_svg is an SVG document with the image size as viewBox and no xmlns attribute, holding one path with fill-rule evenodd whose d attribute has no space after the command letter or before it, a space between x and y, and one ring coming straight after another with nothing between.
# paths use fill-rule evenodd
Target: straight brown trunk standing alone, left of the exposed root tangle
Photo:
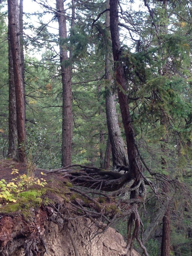
<instances>
[{"instance_id":1,"label":"straight brown trunk standing alone, left of the exposed root tangle","mask_svg":"<svg viewBox=\"0 0 192 256\"><path fill-rule=\"evenodd\" d=\"M61 145L61 165L63 167L71 164L71 143L72 143L72 89L71 89L71 65L68 63L67 49L62 43L62 39L67 38L66 17L63 0L56 0L57 18L59 23L60 36L60 63L61 78L63 86L63 121L62 121L62 145Z\"/></svg>"}]
</instances>

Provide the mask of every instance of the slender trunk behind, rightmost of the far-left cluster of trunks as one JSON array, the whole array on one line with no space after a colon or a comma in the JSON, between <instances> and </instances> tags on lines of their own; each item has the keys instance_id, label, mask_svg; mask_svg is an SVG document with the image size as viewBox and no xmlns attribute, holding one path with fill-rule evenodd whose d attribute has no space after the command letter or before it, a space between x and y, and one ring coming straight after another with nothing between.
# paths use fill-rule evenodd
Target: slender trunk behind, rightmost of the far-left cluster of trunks
<instances>
[{"instance_id":1,"label":"slender trunk behind, rightmost of the far-left cluster of trunks","mask_svg":"<svg viewBox=\"0 0 192 256\"><path fill-rule=\"evenodd\" d=\"M26 122L26 100L25 100L25 71L24 71L24 50L23 50L23 0L19 2L19 29L20 29L20 47L21 47L21 72L24 91L24 107L25 107L25 122ZM25 134L25 141L27 142L27 135Z\"/></svg>"}]
</instances>

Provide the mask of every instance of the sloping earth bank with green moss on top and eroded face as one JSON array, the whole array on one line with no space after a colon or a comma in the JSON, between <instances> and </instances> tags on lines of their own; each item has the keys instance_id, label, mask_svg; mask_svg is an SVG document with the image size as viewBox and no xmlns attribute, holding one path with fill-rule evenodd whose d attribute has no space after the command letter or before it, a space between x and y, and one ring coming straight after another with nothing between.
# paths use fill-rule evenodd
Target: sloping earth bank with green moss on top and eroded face
<instances>
[{"instance_id":1,"label":"sloping earth bank with green moss on top and eroded face","mask_svg":"<svg viewBox=\"0 0 192 256\"><path fill-rule=\"evenodd\" d=\"M11 181L12 168L23 173L25 165L0 163L0 180ZM41 170L37 170L39 173ZM37 176L38 176L37 173ZM52 184L52 180L50 183ZM115 229L98 229L85 216L70 212L67 188L34 187L21 192L16 203L0 207L1 256L124 256L126 243ZM139 254L133 251L133 256Z\"/></svg>"}]
</instances>

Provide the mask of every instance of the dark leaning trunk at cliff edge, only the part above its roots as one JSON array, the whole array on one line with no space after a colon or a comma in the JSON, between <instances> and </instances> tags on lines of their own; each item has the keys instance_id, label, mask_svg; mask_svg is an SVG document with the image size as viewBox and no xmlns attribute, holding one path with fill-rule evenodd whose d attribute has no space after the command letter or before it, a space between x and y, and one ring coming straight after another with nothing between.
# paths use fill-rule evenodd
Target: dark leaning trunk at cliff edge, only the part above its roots
<instances>
[{"instance_id":1,"label":"dark leaning trunk at cliff edge, only the part above its roots","mask_svg":"<svg viewBox=\"0 0 192 256\"><path fill-rule=\"evenodd\" d=\"M126 80L123 72L123 66L120 61L120 41L118 31L118 1L110 0L110 30L112 39L113 59L115 66L115 78L117 84L118 101L120 105L123 126L125 130L129 168L133 178L140 178L142 167L139 155L135 147L135 133L131 123L131 116L126 95Z\"/></svg>"}]
</instances>

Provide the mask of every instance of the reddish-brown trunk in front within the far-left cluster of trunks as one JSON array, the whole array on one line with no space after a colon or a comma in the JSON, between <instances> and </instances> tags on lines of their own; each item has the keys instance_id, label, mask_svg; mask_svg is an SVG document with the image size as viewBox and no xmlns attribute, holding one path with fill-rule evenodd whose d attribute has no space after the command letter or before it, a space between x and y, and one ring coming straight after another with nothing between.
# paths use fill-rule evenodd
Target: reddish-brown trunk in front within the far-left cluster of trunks
<instances>
[{"instance_id":1,"label":"reddish-brown trunk in front within the far-left cluster of trunks","mask_svg":"<svg viewBox=\"0 0 192 256\"><path fill-rule=\"evenodd\" d=\"M10 31L10 47L13 58L13 72L15 82L15 98L16 98L16 120L18 134L18 159L25 162L26 153L26 131L25 131L25 104L24 91L21 71L21 49L19 41L19 4L18 0L8 1L8 21Z\"/></svg>"}]
</instances>

